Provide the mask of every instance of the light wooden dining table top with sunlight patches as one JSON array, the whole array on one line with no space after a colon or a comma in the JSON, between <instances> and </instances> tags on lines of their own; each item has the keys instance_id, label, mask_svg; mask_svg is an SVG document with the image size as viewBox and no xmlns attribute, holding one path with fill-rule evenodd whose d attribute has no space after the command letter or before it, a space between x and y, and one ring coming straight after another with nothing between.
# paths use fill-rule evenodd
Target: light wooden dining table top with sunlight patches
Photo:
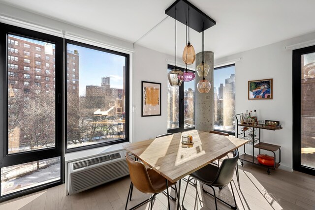
<instances>
[{"instance_id":1,"label":"light wooden dining table top with sunlight patches","mask_svg":"<svg viewBox=\"0 0 315 210\"><path fill-rule=\"evenodd\" d=\"M181 143L182 136L187 135L192 136L192 147ZM235 137L190 130L129 143L123 147L167 180L175 182L247 142Z\"/></svg>"}]
</instances>

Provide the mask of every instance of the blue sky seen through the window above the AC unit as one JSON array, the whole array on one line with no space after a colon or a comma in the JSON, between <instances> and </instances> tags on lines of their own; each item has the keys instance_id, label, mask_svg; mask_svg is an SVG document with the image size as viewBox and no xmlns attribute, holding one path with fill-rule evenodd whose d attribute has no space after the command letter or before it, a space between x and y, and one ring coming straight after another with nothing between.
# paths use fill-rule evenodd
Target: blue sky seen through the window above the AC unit
<instances>
[{"instance_id":1,"label":"blue sky seen through the window above the AC unit","mask_svg":"<svg viewBox=\"0 0 315 210\"><path fill-rule=\"evenodd\" d=\"M100 86L102 77L110 77L110 87L123 89L123 66L126 58L73 44L67 50L79 54L79 94L84 95L87 85Z\"/></svg>"}]
</instances>

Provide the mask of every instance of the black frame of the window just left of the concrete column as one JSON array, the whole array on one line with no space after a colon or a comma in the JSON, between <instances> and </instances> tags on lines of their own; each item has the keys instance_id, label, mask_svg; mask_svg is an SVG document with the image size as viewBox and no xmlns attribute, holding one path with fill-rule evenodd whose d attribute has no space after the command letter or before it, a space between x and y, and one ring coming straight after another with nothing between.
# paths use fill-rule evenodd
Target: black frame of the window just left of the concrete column
<instances>
[{"instance_id":1,"label":"black frame of the window just left of the concrete column","mask_svg":"<svg viewBox=\"0 0 315 210\"><path fill-rule=\"evenodd\" d=\"M175 66L174 65L171 65L171 64L167 64L167 70L168 69L174 69ZM178 67L177 66L177 69L180 69L181 71L185 71L184 68L181 68L181 67ZM190 72L193 72L193 73L196 73L195 71L192 71L192 70L189 70L188 71ZM196 126L196 80L194 79L194 82L195 82L195 98L194 98L194 117L195 117L195 126ZM167 81L168 83L168 81ZM185 90L184 90L184 83L182 83L182 85L179 87L179 127L177 128L168 128L167 129L167 133L178 133L178 132L185 132L185 131L189 131L189 130L194 130L195 129L195 126L193 127L189 127L189 128L185 128L185 125L184 125L184 121L185 121L185 113L184 113L184 106L185 106L185 103L184 103L184 100L185 100ZM167 113L168 114L168 113Z\"/></svg>"}]
</instances>

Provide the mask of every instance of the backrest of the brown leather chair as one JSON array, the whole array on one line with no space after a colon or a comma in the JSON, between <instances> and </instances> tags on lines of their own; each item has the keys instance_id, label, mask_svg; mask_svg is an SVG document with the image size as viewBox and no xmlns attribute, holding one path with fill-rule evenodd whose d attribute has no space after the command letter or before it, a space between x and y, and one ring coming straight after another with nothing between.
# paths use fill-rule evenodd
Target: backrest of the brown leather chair
<instances>
[{"instance_id":1,"label":"backrest of the brown leather chair","mask_svg":"<svg viewBox=\"0 0 315 210\"><path fill-rule=\"evenodd\" d=\"M129 167L130 180L133 185L143 193L154 193L155 190L145 165L141 162L132 160L128 152L126 152L126 160Z\"/></svg>"}]
</instances>

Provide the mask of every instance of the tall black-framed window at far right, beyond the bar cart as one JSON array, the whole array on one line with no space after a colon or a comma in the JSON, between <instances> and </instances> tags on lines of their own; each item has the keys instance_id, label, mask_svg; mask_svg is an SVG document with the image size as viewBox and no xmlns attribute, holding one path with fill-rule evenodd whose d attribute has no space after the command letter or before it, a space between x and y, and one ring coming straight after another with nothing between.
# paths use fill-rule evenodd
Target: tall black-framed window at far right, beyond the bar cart
<instances>
[{"instance_id":1,"label":"tall black-framed window at far right, beyond the bar cart","mask_svg":"<svg viewBox=\"0 0 315 210\"><path fill-rule=\"evenodd\" d=\"M293 50L293 169L315 175L315 46Z\"/></svg>"}]
</instances>

